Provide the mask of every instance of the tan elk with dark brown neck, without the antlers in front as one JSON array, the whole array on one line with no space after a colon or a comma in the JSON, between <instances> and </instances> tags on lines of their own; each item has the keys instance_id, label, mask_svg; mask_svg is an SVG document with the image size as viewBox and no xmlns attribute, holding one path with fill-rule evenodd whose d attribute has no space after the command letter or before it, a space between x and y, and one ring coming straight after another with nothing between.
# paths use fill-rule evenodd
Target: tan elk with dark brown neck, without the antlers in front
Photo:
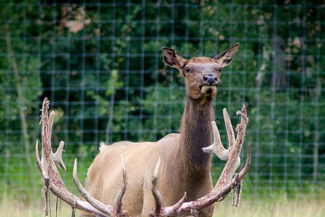
<instances>
[{"instance_id":1,"label":"tan elk with dark brown neck, without the antlers in front","mask_svg":"<svg viewBox=\"0 0 325 217\"><path fill-rule=\"evenodd\" d=\"M238 45L235 46L232 48L237 51ZM229 63L236 53L233 50L231 59L226 60ZM169 134L157 142L119 142L101 146L100 153L89 168L85 183L86 190L96 199L106 204L114 204L122 183L122 155L128 173L128 187L123 197L122 209L127 210L131 216L148 216L154 210L151 180L158 158L161 158L158 189L164 206L176 203L183 197L184 192L187 192L187 201L191 201L205 196L213 189L210 175L211 154L203 152L202 147L212 143L212 99L217 91L203 93L201 88L207 85L203 79L206 73L218 77L211 85L218 87L221 76L218 69L225 66L222 65L224 55L229 53L217 60L209 57L186 60L169 48L163 48L163 54L165 62L179 69L186 78L187 102L180 134ZM190 72L185 71L186 67ZM212 214L213 206L198 213L199 216ZM82 212L82 216L92 215Z\"/></svg>"}]
</instances>

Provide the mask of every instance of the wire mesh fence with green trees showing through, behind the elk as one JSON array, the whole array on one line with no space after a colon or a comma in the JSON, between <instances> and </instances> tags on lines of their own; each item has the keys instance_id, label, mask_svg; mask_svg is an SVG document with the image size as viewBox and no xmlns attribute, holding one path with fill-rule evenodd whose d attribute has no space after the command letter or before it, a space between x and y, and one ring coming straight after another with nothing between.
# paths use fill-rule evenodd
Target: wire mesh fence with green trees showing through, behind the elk
<instances>
[{"instance_id":1,"label":"wire mesh fence with green trees showing through, behind the elk","mask_svg":"<svg viewBox=\"0 0 325 217\"><path fill-rule=\"evenodd\" d=\"M100 141L157 141L178 131L185 82L163 63L161 47L186 58L213 57L239 42L214 104L222 141L222 109L236 122L236 111L247 106L252 166L244 193L320 194L324 0L32 0L0 6L1 192L40 195L33 149L44 97L56 112L53 144L66 143L62 178L73 189L73 159L80 159L85 178ZM215 180L223 164L213 160Z\"/></svg>"}]
</instances>

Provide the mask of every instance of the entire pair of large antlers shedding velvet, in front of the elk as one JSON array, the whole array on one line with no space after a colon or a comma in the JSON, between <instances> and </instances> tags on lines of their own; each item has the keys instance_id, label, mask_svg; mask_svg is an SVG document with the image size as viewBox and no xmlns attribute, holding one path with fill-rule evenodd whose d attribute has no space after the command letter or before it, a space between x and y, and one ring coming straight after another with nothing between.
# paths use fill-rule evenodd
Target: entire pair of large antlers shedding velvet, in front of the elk
<instances>
[{"instance_id":1,"label":"entire pair of large antlers shedding velvet, in front of the elk","mask_svg":"<svg viewBox=\"0 0 325 217\"><path fill-rule=\"evenodd\" d=\"M94 214L96 217L128 217L129 214L127 211L123 211L122 207L122 198L126 191L127 187L127 173L124 165L123 158L122 160L122 171L123 171L123 183L120 188L120 191L115 199L115 205L110 206L102 203L101 201L93 198L86 189L80 183L78 176L77 176L77 160L74 162L73 167L73 180L78 191L81 195L86 199L87 202L79 199L77 196L70 193L55 166L57 163L61 169L65 170L65 165L62 162L62 151L64 142L61 141L58 150L55 154L52 153L51 148L51 130L54 120L54 111L51 112L50 116L48 116L48 109L49 109L50 102L47 98L44 99L43 107L41 109L41 121L40 124L42 125L42 160L39 159L38 154L38 141L36 142L35 147L35 157L36 163L39 168L40 174L42 179L45 183L45 187L43 188L42 192L44 193L45 197L45 216L48 216L49 213L49 190L56 195L58 198L62 199L66 203L68 203L73 210L79 209L89 213ZM216 123L212 122L213 128L213 138L214 142L212 145L203 148L205 152L214 152L219 158L222 160L227 161L225 167L223 168L222 174L219 178L214 189L207 194L206 196L197 199L195 201L185 202L186 200L186 192L182 199L180 199L176 204L173 206L163 207L163 200L162 197L157 189L157 180L158 180L158 171L160 166L160 158L157 162L157 165L154 170L154 175L152 178L152 193L154 195L155 200L155 208L154 211L150 213L150 217L168 217L171 215L180 215L180 214L187 214L193 211L200 211L201 209L210 206L214 202L218 201L219 199L223 199L232 189L237 188L237 193L234 194L233 197L233 204L235 206L239 206L239 197L240 197L240 190L241 190L241 180L247 173L250 163L251 163L251 146L248 145L248 153L245 166L239 172L239 174L235 174L237 168L240 164L239 153L244 141L246 126L248 123L247 118L247 111L245 106L241 111L237 112L238 115L241 115L241 122L236 127L238 131L237 138L235 140L234 131L232 129L232 125L230 122L230 118L226 109L223 109L223 116L227 128L227 134L229 139L229 147L225 149L222 146L220 140L220 134Z\"/></svg>"}]
</instances>

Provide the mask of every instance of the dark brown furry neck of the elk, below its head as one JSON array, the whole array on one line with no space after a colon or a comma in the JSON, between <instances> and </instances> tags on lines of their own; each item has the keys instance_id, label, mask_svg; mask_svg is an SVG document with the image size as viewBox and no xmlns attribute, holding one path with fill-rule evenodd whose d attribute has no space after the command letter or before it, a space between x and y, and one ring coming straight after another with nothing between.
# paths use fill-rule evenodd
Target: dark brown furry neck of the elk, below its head
<instances>
[{"instance_id":1,"label":"dark brown furry neck of the elk, below its head","mask_svg":"<svg viewBox=\"0 0 325 217\"><path fill-rule=\"evenodd\" d=\"M215 119L212 100L197 101L187 98L180 127L180 147L182 165L189 175L210 172L211 154L202 148L212 144L211 121Z\"/></svg>"}]
</instances>

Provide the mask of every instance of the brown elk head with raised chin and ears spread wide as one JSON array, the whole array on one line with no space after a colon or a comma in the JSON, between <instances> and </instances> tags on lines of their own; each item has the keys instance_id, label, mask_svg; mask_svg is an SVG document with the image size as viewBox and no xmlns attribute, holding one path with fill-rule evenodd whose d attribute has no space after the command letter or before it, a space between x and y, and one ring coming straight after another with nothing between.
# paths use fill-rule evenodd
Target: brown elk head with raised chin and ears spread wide
<instances>
[{"instance_id":1,"label":"brown elk head with raised chin and ears spread wide","mask_svg":"<svg viewBox=\"0 0 325 217\"><path fill-rule=\"evenodd\" d=\"M163 47L164 61L185 77L188 97L194 100L212 100L217 94L223 67L229 65L238 51L239 43L214 58L183 58L177 51Z\"/></svg>"}]
</instances>

